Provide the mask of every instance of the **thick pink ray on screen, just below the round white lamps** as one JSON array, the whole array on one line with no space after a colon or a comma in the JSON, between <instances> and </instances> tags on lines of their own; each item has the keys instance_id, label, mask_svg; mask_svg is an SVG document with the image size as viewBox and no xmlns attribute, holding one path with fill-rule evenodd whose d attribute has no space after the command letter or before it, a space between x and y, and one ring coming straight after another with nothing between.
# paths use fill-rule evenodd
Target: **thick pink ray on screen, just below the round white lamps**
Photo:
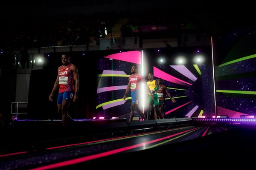
<instances>
[{"instance_id":1,"label":"thick pink ray on screen, just below the round white lamps","mask_svg":"<svg viewBox=\"0 0 256 170\"><path fill-rule=\"evenodd\" d=\"M162 78L162 79L164 79L166 81L169 81L169 82L173 82L173 83L179 84L179 85L186 85L186 86L192 85L192 84L190 84L188 82L185 82L185 81L183 81L181 79L173 77L170 74L167 74L167 73L159 70L156 67L154 67L154 76L158 77L158 78Z\"/></svg>"}]
</instances>

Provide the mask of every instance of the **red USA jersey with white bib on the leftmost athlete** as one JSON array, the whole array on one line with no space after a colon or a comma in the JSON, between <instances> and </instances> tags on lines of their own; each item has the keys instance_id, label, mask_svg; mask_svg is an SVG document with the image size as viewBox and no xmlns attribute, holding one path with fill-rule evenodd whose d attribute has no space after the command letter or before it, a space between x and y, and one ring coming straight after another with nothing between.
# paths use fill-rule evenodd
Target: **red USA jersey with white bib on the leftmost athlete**
<instances>
[{"instance_id":1,"label":"red USA jersey with white bib on the leftmost athlete","mask_svg":"<svg viewBox=\"0 0 256 170\"><path fill-rule=\"evenodd\" d=\"M63 93L64 91L74 91L74 85L73 85L73 80L74 80L74 75L73 72L70 71L70 66L72 64L70 63L67 65L66 68L63 68L61 65L58 68L58 75L59 75L59 93Z\"/></svg>"}]
</instances>

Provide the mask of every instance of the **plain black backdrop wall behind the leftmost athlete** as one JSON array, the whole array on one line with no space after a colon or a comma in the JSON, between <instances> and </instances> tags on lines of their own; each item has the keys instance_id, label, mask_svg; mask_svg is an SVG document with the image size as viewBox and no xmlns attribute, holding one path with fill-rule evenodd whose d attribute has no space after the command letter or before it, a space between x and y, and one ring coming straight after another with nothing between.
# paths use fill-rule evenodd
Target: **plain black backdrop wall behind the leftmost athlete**
<instances>
[{"instance_id":1,"label":"plain black backdrop wall behind the leftmost athlete","mask_svg":"<svg viewBox=\"0 0 256 170\"><path fill-rule=\"evenodd\" d=\"M96 93L96 61L102 57L102 52L71 52L71 63L76 65L79 72L79 100L71 104L69 115L72 118L89 118L95 110ZM49 55L49 57L48 57ZM57 113L57 96L55 91L52 102L48 100L54 82L57 78L57 69L61 63L62 53L45 54L44 68L31 71L28 97L28 119L51 119ZM60 115L58 115L59 117Z\"/></svg>"}]
</instances>

